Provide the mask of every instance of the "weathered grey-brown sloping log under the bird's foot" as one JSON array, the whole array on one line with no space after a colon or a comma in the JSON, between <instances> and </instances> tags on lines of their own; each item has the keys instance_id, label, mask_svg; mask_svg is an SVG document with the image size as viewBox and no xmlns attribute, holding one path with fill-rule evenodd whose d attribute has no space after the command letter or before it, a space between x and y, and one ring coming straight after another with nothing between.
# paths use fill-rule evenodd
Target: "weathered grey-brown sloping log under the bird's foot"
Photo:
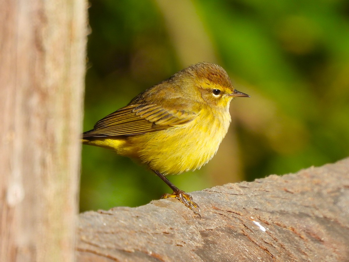
<instances>
[{"instance_id":1,"label":"weathered grey-brown sloping log under the bird's foot","mask_svg":"<svg viewBox=\"0 0 349 262\"><path fill-rule=\"evenodd\" d=\"M348 261L349 158L176 199L80 214L78 261Z\"/></svg>"}]
</instances>

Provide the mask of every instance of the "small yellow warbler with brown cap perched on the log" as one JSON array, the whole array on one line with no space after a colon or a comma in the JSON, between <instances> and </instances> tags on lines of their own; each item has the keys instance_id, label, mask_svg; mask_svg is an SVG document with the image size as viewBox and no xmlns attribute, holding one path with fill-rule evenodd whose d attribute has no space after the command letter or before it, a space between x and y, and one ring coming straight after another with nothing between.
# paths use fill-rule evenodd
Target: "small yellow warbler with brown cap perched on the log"
<instances>
[{"instance_id":1,"label":"small yellow warbler with brown cap perched on the log","mask_svg":"<svg viewBox=\"0 0 349 262\"><path fill-rule=\"evenodd\" d=\"M173 190L164 198L178 198L201 218L192 196L165 175L198 169L216 154L231 122L233 97L250 96L232 86L221 66L191 65L99 120L82 142L147 165Z\"/></svg>"}]
</instances>

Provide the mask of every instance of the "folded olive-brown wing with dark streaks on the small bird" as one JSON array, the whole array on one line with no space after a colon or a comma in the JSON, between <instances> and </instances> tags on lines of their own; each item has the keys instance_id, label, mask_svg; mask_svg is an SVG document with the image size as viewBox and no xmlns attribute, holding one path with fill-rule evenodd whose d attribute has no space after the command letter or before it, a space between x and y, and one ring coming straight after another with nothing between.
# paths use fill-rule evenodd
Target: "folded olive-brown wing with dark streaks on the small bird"
<instances>
[{"instance_id":1,"label":"folded olive-brown wing with dark streaks on the small bird","mask_svg":"<svg viewBox=\"0 0 349 262\"><path fill-rule=\"evenodd\" d=\"M156 104L129 104L99 120L83 138L129 136L162 129L176 128L197 116L189 110L164 109Z\"/></svg>"}]
</instances>

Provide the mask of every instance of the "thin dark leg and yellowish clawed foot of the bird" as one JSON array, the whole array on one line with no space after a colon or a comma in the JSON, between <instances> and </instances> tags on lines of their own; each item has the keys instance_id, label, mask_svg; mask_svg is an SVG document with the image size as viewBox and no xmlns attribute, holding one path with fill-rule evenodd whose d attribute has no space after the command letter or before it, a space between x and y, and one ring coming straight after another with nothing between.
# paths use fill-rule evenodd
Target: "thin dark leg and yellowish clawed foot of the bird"
<instances>
[{"instance_id":1,"label":"thin dark leg and yellowish clawed foot of the bird","mask_svg":"<svg viewBox=\"0 0 349 262\"><path fill-rule=\"evenodd\" d=\"M201 218L200 215L200 207L198 204L196 204L193 201L193 198L191 195L187 194L186 192L184 192L183 190L180 190L178 187L176 187L174 184L171 183L170 180L168 180L163 174L161 174L160 172L153 170L153 172L155 174L158 175L158 177L160 177L172 190L173 190L173 194L165 194L163 196L163 198L168 198L168 197L174 197L177 198L180 202L182 202L183 204L185 204L188 208L190 208L194 214L196 214L197 216L199 216L199 218Z\"/></svg>"}]
</instances>

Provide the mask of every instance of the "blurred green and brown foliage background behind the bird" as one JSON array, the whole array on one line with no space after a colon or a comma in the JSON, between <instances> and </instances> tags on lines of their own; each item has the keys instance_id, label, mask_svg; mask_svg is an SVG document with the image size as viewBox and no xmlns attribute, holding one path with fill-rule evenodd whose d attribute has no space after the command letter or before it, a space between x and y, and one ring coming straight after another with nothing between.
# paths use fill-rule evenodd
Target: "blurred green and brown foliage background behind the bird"
<instances>
[{"instance_id":1,"label":"blurred green and brown foliage background behind the bird","mask_svg":"<svg viewBox=\"0 0 349 262\"><path fill-rule=\"evenodd\" d=\"M188 65L227 70L217 155L169 179L187 192L297 172L349 155L349 2L91 0L84 131ZM81 211L138 206L170 189L112 151L83 146Z\"/></svg>"}]
</instances>

